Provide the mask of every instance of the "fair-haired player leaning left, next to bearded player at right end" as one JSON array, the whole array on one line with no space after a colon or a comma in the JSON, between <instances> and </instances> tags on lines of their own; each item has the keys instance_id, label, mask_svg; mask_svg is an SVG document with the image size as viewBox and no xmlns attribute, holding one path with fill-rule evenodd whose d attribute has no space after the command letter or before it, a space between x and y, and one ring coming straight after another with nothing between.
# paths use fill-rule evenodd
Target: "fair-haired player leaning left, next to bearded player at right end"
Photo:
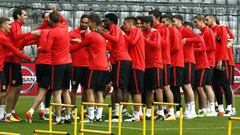
<instances>
[{"instance_id":1,"label":"fair-haired player leaning left, next to bearded player at right end","mask_svg":"<svg viewBox=\"0 0 240 135\"><path fill-rule=\"evenodd\" d=\"M216 50L215 35L212 29L205 25L204 16L202 15L195 16L194 24L199 30L201 30L200 35L202 36L206 46L206 53L209 64L209 69L206 69L206 85L204 86L204 90L209 101L207 108L207 116L210 117L216 116L214 103L215 95L212 89L213 69L215 67L215 50Z\"/></svg>"}]
</instances>

